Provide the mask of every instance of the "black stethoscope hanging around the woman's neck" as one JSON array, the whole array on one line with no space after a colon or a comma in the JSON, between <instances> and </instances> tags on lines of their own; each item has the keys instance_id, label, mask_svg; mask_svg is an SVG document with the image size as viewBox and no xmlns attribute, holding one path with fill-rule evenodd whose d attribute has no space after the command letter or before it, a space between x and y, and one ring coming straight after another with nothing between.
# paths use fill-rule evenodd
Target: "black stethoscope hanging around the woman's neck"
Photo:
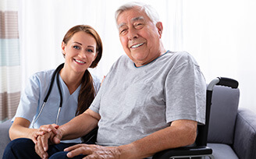
<instances>
[{"instance_id":1,"label":"black stethoscope hanging around the woman's neck","mask_svg":"<svg viewBox=\"0 0 256 159\"><path fill-rule=\"evenodd\" d=\"M44 106L45 106L45 104L46 104L46 102L47 102L47 100L48 100L48 97L49 97L49 95L51 94L52 86L53 86L53 83L54 83L54 80L55 80L55 76L57 76L56 81L57 81L57 87L58 87L58 90L59 90L59 97L60 97L59 109L58 109L58 114L57 114L56 122L55 122L55 124L58 125L59 113L60 113L60 111L61 111L61 109L62 109L62 101L63 101L63 99L62 99L62 90L60 89L60 85L59 85L59 71L63 68L63 66L64 66L64 63L62 63L61 65L59 65L59 66L57 67L57 69L55 69L55 72L53 72L53 74L52 74L52 80L51 80L51 84L50 84L48 93L47 93L46 96L44 97L44 103L42 104L41 109L40 109L40 111L39 111L37 117L34 119L34 121L33 121L32 124L31 124L31 125L32 125L32 128L34 128L34 122L37 122L37 119L40 117L41 112L43 111Z\"/></svg>"}]
</instances>

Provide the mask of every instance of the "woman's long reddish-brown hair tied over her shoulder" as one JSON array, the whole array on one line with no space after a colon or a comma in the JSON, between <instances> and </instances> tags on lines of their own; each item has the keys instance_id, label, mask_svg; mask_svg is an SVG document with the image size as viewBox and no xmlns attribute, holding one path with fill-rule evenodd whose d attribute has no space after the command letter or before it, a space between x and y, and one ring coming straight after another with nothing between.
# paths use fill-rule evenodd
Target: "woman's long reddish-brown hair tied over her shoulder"
<instances>
[{"instance_id":1,"label":"woman's long reddish-brown hair tied over her shoulder","mask_svg":"<svg viewBox=\"0 0 256 159\"><path fill-rule=\"evenodd\" d=\"M66 35L63 38L63 42L67 44L71 37L79 31L84 31L84 33L91 34L94 37L97 46L96 46L96 53L97 57L95 58L94 62L91 63L90 68L95 68L98 65L98 62L101 60L102 55L102 42L101 37L98 35L96 30L88 25L78 25L73 26L71 29L68 30ZM84 111L89 108L92 101L94 101L94 97L96 95L96 91L94 89L94 80L91 76L91 73L86 70L84 72L84 76L81 81L81 88L80 93L78 95L78 103L76 109L76 115L82 114Z\"/></svg>"}]
</instances>

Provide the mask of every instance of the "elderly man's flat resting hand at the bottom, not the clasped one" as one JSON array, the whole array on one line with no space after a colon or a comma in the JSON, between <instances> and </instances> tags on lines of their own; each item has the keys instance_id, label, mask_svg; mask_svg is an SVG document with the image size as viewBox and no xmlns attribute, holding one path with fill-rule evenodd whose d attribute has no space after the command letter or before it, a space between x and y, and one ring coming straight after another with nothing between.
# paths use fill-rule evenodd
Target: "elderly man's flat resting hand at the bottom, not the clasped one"
<instances>
[{"instance_id":1,"label":"elderly man's flat resting hand at the bottom, not the clasped one","mask_svg":"<svg viewBox=\"0 0 256 159\"><path fill-rule=\"evenodd\" d=\"M119 159L120 150L118 147L101 147L98 145L77 144L68 147L64 151L70 151L67 157L75 157L80 154L87 155L84 159L101 158L101 159Z\"/></svg>"}]
</instances>

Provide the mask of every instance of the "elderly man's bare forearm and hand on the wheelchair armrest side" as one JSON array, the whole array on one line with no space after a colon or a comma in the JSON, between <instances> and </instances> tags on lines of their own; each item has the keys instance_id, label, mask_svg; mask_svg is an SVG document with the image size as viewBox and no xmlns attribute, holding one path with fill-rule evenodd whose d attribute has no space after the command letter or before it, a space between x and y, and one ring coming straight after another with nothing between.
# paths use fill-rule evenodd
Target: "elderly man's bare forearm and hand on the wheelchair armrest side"
<instances>
[{"instance_id":1,"label":"elderly man's bare forearm and hand on the wheelchair armrest side","mask_svg":"<svg viewBox=\"0 0 256 159\"><path fill-rule=\"evenodd\" d=\"M120 147L101 147L98 145L80 144L68 147L67 156L74 157L79 154L87 155L84 158L144 158L150 157L161 150L184 147L194 143L197 136L197 122L190 120L177 120L168 128L152 133L143 139Z\"/></svg>"}]
</instances>

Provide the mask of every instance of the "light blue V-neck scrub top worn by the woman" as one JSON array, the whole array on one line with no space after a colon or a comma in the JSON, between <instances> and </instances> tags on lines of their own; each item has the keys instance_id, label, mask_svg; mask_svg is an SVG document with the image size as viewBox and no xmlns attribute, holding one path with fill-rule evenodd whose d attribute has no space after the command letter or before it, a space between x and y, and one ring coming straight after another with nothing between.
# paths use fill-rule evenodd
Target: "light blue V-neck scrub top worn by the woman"
<instances>
[{"instance_id":1,"label":"light blue V-neck scrub top worn by the woman","mask_svg":"<svg viewBox=\"0 0 256 159\"><path fill-rule=\"evenodd\" d=\"M30 123L34 121L44 102L44 97L48 93L48 88L50 86L52 74L54 71L54 69L48 71L41 71L35 73L33 76L30 77L29 83L27 83L27 87L25 88L23 94L20 97L20 104L17 108L14 118L26 118L30 121ZM91 76L94 80L94 88L96 92L98 92L101 85L101 80L98 79L96 76ZM78 87L73 92L73 94L69 94L69 89L60 76L59 82L62 90L63 101L62 108L59 114L58 125L63 125L76 116L77 97L80 93L80 87ZM35 129L39 128L41 125L55 123L59 109L59 101L59 90L55 80L55 82L53 83L52 92L48 97L48 101L46 102L40 117L34 123ZM14 118L12 118L12 121L14 120ZM62 142L80 143L80 139L66 140Z\"/></svg>"}]
</instances>

